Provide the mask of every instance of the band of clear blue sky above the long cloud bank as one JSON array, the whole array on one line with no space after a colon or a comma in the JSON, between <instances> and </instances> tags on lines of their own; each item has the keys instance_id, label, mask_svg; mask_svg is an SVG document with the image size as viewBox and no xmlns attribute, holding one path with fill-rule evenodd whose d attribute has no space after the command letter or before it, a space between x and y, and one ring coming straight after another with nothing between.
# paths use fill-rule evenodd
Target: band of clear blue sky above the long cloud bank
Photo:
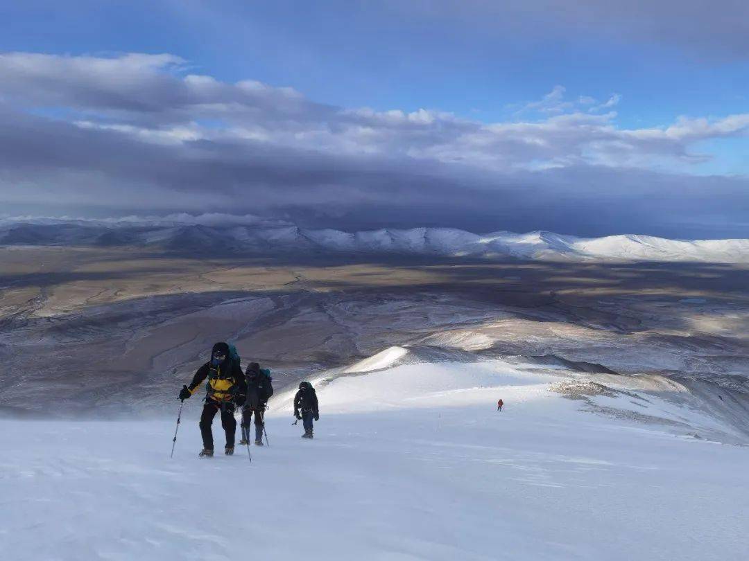
<instances>
[{"instance_id":1,"label":"band of clear blue sky above the long cloud bank","mask_svg":"<svg viewBox=\"0 0 749 561\"><path fill-rule=\"evenodd\" d=\"M377 2L6 2L0 50L169 52L229 82L289 85L346 107L431 108L481 120L554 85L622 94L622 126L749 106L749 55L701 53L652 39L564 34L424 16ZM387 3L384 3L387 4ZM512 27L512 26L511 26ZM546 36L545 36L546 35Z\"/></svg>"}]
</instances>

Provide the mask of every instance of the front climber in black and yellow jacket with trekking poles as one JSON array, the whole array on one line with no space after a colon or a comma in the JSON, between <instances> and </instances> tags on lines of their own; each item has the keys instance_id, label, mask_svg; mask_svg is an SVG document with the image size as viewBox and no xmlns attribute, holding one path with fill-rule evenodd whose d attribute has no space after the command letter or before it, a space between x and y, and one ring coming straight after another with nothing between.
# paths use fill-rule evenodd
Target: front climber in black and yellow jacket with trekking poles
<instances>
[{"instance_id":1,"label":"front climber in black and yellow jacket with trekking poles","mask_svg":"<svg viewBox=\"0 0 749 561\"><path fill-rule=\"evenodd\" d=\"M206 396L203 414L200 416L200 433L203 437L201 458L213 456L213 432L210 425L213 417L221 411L221 425L226 433L225 454L234 453L234 433L237 421L234 420L234 407L244 405L247 384L242 374L239 361L229 356L227 343L216 343L210 353L210 361L198 368L189 386L183 386L180 399L188 399L198 386L208 378L205 384Z\"/></svg>"}]
</instances>

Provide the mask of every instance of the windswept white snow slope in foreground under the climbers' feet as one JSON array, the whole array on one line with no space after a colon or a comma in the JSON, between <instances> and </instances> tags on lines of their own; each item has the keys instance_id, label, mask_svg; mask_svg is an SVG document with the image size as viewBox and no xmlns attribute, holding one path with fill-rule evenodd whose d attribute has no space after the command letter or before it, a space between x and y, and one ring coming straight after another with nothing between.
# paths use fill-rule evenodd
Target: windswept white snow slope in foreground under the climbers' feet
<instances>
[{"instance_id":1,"label":"windswept white snow slope in foreground under the climbers' feet","mask_svg":"<svg viewBox=\"0 0 749 561\"><path fill-rule=\"evenodd\" d=\"M548 390L557 373L343 374L318 384L314 441L291 426L293 391L274 397L252 463L197 458L198 399L174 459L174 419L2 421L0 559L746 559L748 448L580 411Z\"/></svg>"}]
</instances>

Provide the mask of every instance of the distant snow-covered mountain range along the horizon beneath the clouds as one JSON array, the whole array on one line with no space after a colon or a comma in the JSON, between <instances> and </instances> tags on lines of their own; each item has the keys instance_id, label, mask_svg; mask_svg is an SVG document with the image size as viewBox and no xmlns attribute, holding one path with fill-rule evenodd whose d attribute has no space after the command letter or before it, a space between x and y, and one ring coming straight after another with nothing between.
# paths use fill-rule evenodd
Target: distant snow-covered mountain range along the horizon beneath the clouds
<instances>
[{"instance_id":1,"label":"distant snow-covered mountain range along the horizon beneath the clouds","mask_svg":"<svg viewBox=\"0 0 749 561\"><path fill-rule=\"evenodd\" d=\"M0 245L136 245L167 251L321 251L348 254L434 255L527 260L623 260L749 263L749 239L674 240L619 235L580 238L557 233L476 234L452 228L364 232L312 230L291 224L219 216L136 221L5 218Z\"/></svg>"}]
</instances>

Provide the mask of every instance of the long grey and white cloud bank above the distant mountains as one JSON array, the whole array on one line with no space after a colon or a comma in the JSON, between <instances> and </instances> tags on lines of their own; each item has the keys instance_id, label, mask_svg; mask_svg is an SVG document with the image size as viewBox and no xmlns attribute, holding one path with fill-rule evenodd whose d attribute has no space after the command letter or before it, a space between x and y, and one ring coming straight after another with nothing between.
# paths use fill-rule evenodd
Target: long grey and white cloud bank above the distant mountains
<instances>
[{"instance_id":1,"label":"long grey and white cloud bank above the distant mountains","mask_svg":"<svg viewBox=\"0 0 749 561\"><path fill-rule=\"evenodd\" d=\"M579 209L649 204L631 197L635 191L674 197L679 183L702 181L736 191L733 203L747 197L741 180L655 171L705 161L697 143L746 134L749 114L622 129L612 111L618 95L568 96L557 86L527 103L523 118L482 123L425 109L341 108L291 88L220 82L189 73L173 55L6 53L0 76L0 193L16 206L231 209L303 223L474 230L484 229L476 220L488 230L521 219L527 224L513 229L546 227L568 212L577 218L553 229L598 234L621 230L623 218L581 225ZM636 181L646 188L633 190ZM697 191L682 188L693 202ZM643 224L648 214L639 212Z\"/></svg>"}]
</instances>

